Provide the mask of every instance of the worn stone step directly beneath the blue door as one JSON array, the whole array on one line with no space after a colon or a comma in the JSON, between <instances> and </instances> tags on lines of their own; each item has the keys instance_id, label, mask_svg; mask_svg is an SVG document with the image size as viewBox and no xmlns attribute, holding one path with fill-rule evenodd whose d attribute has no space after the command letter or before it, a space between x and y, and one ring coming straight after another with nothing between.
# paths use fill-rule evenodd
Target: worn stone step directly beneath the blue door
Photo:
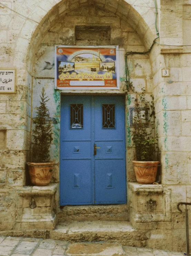
<instances>
[{"instance_id":1,"label":"worn stone step directly beneath the blue door","mask_svg":"<svg viewBox=\"0 0 191 256\"><path fill-rule=\"evenodd\" d=\"M75 205L62 206L58 213L60 221L128 221L129 211L127 204L117 205Z\"/></svg>"}]
</instances>

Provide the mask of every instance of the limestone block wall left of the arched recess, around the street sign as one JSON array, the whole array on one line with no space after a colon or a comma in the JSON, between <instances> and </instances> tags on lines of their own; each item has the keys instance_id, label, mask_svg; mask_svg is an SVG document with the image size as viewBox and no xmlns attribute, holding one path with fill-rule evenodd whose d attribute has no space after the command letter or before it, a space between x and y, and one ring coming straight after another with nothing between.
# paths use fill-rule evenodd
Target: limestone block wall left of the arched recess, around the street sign
<instances>
[{"instance_id":1,"label":"limestone block wall left of the arched recess, around the street sign","mask_svg":"<svg viewBox=\"0 0 191 256\"><path fill-rule=\"evenodd\" d=\"M13 229L20 214L17 205L19 197L15 191L25 184L25 163L30 142L30 112L27 112L30 100L25 76L28 44L20 34L26 19L14 15L12 7L11 1L0 5L0 67L16 69L16 94L0 94L1 230Z\"/></svg>"}]
</instances>

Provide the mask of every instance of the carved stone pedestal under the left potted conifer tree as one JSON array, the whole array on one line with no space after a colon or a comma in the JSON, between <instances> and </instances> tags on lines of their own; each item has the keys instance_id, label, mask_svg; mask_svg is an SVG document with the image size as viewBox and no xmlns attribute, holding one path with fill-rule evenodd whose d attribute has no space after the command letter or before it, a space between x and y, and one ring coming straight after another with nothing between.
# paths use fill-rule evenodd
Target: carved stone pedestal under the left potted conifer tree
<instances>
[{"instance_id":1,"label":"carved stone pedestal under the left potted conifer tree","mask_svg":"<svg viewBox=\"0 0 191 256\"><path fill-rule=\"evenodd\" d=\"M22 199L21 229L52 230L57 222L58 184L25 186L19 190Z\"/></svg>"}]
</instances>

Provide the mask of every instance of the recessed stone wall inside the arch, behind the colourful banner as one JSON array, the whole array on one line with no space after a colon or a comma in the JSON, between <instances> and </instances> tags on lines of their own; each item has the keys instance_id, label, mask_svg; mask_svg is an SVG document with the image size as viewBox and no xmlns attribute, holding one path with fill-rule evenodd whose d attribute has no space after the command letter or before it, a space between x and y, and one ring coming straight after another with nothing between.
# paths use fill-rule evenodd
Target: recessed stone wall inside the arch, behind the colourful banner
<instances>
[{"instance_id":1,"label":"recessed stone wall inside the arch, behind the colourful banner","mask_svg":"<svg viewBox=\"0 0 191 256\"><path fill-rule=\"evenodd\" d=\"M91 17L91 19L89 18ZM50 19L50 18L49 18ZM111 22L112 21L112 22ZM90 30L82 29L83 25L91 26ZM102 24L109 25L105 33L110 35L109 38L105 38L105 33L95 32L98 27ZM75 34L75 25L78 25L81 30ZM110 29L109 29L110 28ZM91 35L91 30L94 29L94 40ZM105 26L103 26L104 31ZM53 32L52 32L53 31ZM64 33L63 33L64 32ZM54 90L54 67L50 70L46 69L46 62L54 63L54 45L120 45L119 56L120 56L120 78L125 79L125 61L124 54L128 49L133 51L142 52L145 50L142 40L136 31L127 23L125 18L120 17L120 13L113 14L112 12L105 11L101 7L95 6L82 6L77 10L69 12L65 15L61 21L56 21L56 24L52 25L52 28L44 33L44 38L42 38L39 50L37 50L36 58L34 60L34 79L33 79L33 117L35 116L34 109L39 104L40 91L44 86L46 88L47 95L49 95L50 100L48 102L48 107L50 109L50 116L57 119L58 124L54 125L54 139L51 148L52 160L58 163L59 166L59 124L60 124L60 91ZM132 55L128 59L128 66L130 69L130 78L133 79L133 86L138 92L141 88L145 88L148 93L148 97L152 93L152 73L149 55ZM68 90L64 93L87 93L89 91L75 91ZM92 91L92 93L97 94L125 94L127 89L125 87L125 82L121 82L120 90L97 90ZM131 97L131 96L130 96ZM127 104L127 115L129 103L131 101L129 97L129 102ZM133 97L133 95L132 95ZM133 106L133 101L131 103ZM128 119L128 117L127 117ZM131 164L133 157L132 141L130 128L128 127L128 122L126 123L128 129L128 161ZM129 181L135 181L133 168L128 165L127 177ZM52 180L54 182L59 181L59 168L53 171Z\"/></svg>"}]
</instances>

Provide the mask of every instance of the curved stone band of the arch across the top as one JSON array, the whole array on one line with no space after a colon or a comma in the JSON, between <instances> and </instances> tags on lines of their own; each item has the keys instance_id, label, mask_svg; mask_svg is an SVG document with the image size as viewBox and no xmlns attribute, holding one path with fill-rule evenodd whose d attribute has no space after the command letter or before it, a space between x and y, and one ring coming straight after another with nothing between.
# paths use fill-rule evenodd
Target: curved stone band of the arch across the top
<instances>
[{"instance_id":1,"label":"curved stone band of the arch across the top","mask_svg":"<svg viewBox=\"0 0 191 256\"><path fill-rule=\"evenodd\" d=\"M42 1L41 1L42 2ZM36 7L42 7L43 3L39 3ZM70 2L67 0L57 1L58 3L54 5L48 5L46 7L46 15L43 16L44 12L38 14L38 22L37 24L31 24L29 34L32 35L31 37L31 46L29 47L29 66L30 62L32 62L33 53L36 52L36 48L42 41L42 38L47 34L47 31L52 33L53 27L55 24L59 22L59 19L62 19L64 16L68 15L70 12L74 11L75 9L79 8L86 8L87 6L92 6L95 8L99 8L103 11L109 11L113 14L117 14L120 18L124 19L127 24L129 24L132 29L134 29L138 34L139 37L143 39L143 44L145 47L149 48L152 44L153 39L155 38L155 12L153 10L153 6L149 6L147 1L141 1L141 4L137 3L137 5L131 5L131 1L124 1L124 0L93 0L89 5L88 0L79 0L75 2ZM134 2L134 1L132 1ZM43 6L44 7L44 6ZM28 22L29 23L29 22ZM95 24L95 21L92 21L92 24ZM108 21L108 23L112 23L112 20ZM26 26L22 28L21 33L24 33L24 29ZM30 35L29 35L30 37ZM68 41L68 43L71 43Z\"/></svg>"}]
</instances>

